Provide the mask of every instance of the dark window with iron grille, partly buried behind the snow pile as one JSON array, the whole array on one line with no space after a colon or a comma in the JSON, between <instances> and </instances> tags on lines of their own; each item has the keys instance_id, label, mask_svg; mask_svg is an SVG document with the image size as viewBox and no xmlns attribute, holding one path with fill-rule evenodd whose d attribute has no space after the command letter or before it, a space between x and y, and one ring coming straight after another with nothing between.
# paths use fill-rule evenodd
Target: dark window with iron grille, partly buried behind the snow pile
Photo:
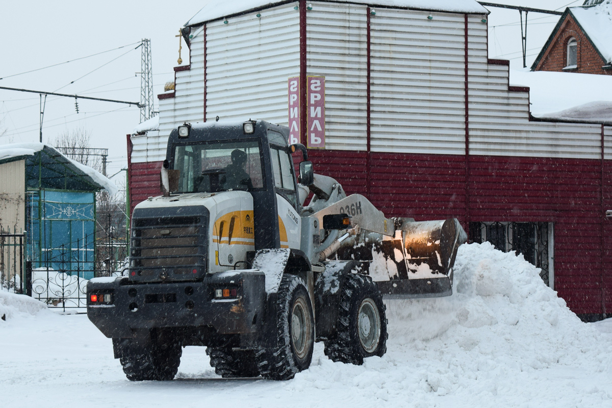
<instances>
[{"instance_id":1,"label":"dark window with iron grille, partly buried behind the snow pile","mask_svg":"<svg viewBox=\"0 0 612 408\"><path fill-rule=\"evenodd\" d=\"M523 254L542 270L544 283L553 287L553 223L471 222L469 237L472 242L490 242L500 251Z\"/></svg>"}]
</instances>

